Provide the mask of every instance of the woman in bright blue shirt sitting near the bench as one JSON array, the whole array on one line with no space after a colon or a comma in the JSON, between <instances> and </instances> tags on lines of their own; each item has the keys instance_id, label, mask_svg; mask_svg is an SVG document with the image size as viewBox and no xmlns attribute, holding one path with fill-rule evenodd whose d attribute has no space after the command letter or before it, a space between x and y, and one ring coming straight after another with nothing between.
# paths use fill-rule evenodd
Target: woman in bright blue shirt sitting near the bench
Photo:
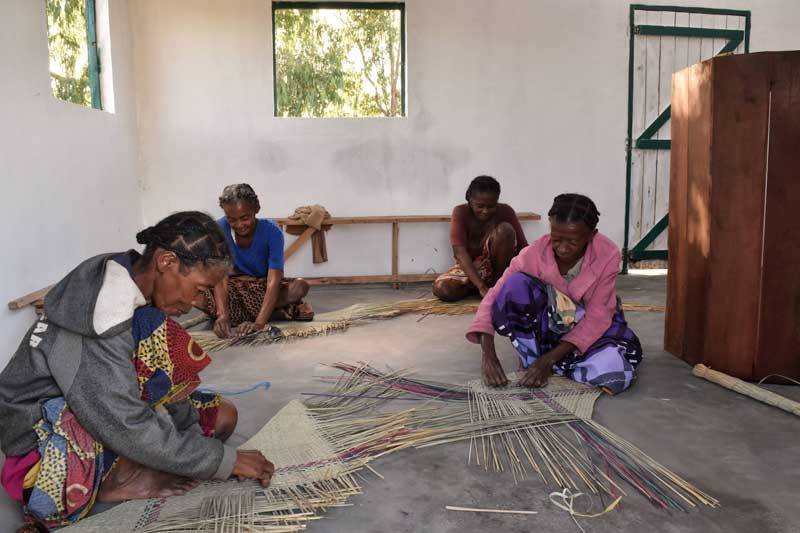
<instances>
[{"instance_id":1,"label":"woman in bright blue shirt sitting near the bench","mask_svg":"<svg viewBox=\"0 0 800 533\"><path fill-rule=\"evenodd\" d=\"M250 185L228 185L219 197L225 216L217 221L233 254L233 273L213 291L206 291L200 308L215 318L214 333L225 338L261 331L270 320L312 320L303 302L308 282L283 277L283 232L267 219Z\"/></svg>"}]
</instances>

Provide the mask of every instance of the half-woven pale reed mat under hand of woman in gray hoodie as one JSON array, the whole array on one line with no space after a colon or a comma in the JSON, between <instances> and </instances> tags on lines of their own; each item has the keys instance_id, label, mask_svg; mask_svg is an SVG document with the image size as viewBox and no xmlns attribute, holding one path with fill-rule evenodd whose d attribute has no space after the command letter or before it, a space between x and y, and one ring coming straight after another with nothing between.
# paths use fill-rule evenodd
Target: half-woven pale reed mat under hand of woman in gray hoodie
<instances>
[{"instance_id":1,"label":"half-woven pale reed mat under hand of woman in gray hoodie","mask_svg":"<svg viewBox=\"0 0 800 533\"><path fill-rule=\"evenodd\" d=\"M275 464L266 490L253 481L207 482L184 496L133 500L64 531L106 533L166 531L299 531L328 507L360 489L348 464L303 404L291 401L242 449L257 449ZM222 529L227 528L227 529Z\"/></svg>"}]
</instances>

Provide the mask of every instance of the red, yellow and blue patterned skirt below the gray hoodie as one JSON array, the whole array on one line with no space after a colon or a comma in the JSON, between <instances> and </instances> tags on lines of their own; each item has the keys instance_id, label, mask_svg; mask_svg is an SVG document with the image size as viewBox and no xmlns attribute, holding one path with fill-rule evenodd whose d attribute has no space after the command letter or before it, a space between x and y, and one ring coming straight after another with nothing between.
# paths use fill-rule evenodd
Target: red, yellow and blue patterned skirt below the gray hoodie
<instances>
[{"instance_id":1,"label":"red, yellow and blue patterned skirt below the gray hoodie","mask_svg":"<svg viewBox=\"0 0 800 533\"><path fill-rule=\"evenodd\" d=\"M142 400L153 409L187 400L198 410L200 428L213 436L220 398L195 391L200 371L211 359L177 322L154 307L133 317L133 362ZM91 510L100 484L117 455L86 431L63 397L42 405L34 427L38 446L7 457L2 484L24 505L25 514L47 527L69 525Z\"/></svg>"}]
</instances>

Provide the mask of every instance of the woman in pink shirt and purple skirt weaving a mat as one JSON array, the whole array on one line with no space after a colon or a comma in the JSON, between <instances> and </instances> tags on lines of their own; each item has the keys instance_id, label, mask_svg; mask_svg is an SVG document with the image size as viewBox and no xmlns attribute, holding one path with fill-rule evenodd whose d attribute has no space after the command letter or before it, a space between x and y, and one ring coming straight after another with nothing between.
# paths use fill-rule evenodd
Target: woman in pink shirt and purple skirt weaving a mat
<instances>
[{"instance_id":1,"label":"woman in pink shirt and purple skirt weaving a mat","mask_svg":"<svg viewBox=\"0 0 800 533\"><path fill-rule=\"evenodd\" d=\"M522 386L543 387L553 372L613 393L630 386L642 346L617 299L620 253L597 231L599 215L586 196L557 196L550 234L523 249L481 301L467 339L481 345L489 385L508 383L497 332L519 353Z\"/></svg>"}]
</instances>

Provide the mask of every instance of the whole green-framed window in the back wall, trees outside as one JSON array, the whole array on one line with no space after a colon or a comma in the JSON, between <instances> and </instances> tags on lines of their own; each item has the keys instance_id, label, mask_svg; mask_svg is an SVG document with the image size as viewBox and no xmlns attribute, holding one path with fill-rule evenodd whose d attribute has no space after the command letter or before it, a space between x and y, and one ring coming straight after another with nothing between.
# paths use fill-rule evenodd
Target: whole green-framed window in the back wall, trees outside
<instances>
[{"instance_id":1,"label":"whole green-framed window in the back wall, trees outside","mask_svg":"<svg viewBox=\"0 0 800 533\"><path fill-rule=\"evenodd\" d=\"M274 2L275 116L405 115L405 6Z\"/></svg>"}]
</instances>

